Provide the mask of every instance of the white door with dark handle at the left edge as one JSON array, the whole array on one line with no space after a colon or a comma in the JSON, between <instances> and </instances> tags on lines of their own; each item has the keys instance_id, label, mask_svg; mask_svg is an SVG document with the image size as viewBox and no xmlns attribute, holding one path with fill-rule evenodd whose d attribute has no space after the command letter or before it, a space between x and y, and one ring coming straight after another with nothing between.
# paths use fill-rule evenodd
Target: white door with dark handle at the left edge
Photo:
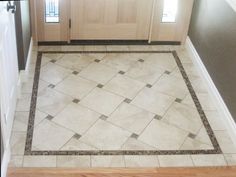
<instances>
[{"instance_id":1,"label":"white door with dark handle at the left edge","mask_svg":"<svg viewBox=\"0 0 236 177\"><path fill-rule=\"evenodd\" d=\"M19 71L14 14L11 11L7 12L6 7L7 2L0 1L0 117L4 150L9 151ZM1 170L1 174L6 172L4 170L6 169Z\"/></svg>"}]
</instances>

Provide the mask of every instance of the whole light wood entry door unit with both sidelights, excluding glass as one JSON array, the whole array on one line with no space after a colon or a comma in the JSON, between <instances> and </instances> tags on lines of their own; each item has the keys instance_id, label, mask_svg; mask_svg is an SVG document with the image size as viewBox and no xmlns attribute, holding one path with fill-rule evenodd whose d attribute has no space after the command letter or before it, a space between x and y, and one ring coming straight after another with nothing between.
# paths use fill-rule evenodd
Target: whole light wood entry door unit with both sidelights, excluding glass
<instances>
[{"instance_id":1,"label":"whole light wood entry door unit with both sidelights, excluding glass","mask_svg":"<svg viewBox=\"0 0 236 177\"><path fill-rule=\"evenodd\" d=\"M164 0L59 0L60 22L45 22L45 0L31 0L38 41L147 40L184 42L194 0L178 0L173 23L163 23ZM37 8L36 8L37 7Z\"/></svg>"}]
</instances>

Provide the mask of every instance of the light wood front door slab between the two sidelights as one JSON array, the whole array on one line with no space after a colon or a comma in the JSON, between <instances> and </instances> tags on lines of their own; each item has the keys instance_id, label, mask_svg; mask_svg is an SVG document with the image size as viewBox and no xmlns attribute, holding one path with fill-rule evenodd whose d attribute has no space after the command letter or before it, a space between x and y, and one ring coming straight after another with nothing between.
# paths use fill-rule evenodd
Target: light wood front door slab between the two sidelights
<instances>
[{"instance_id":1,"label":"light wood front door slab between the two sidelights","mask_svg":"<svg viewBox=\"0 0 236 177\"><path fill-rule=\"evenodd\" d=\"M148 40L153 0L71 0L72 40Z\"/></svg>"}]
</instances>

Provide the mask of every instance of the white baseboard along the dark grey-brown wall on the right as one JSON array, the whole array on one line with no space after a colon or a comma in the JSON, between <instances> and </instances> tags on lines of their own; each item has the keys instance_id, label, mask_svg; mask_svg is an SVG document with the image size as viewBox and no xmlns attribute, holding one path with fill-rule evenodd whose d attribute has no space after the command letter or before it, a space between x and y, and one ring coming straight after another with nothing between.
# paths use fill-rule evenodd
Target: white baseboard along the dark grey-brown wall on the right
<instances>
[{"instance_id":1,"label":"white baseboard along the dark grey-brown wall on the right","mask_svg":"<svg viewBox=\"0 0 236 177\"><path fill-rule=\"evenodd\" d=\"M192 41L188 37L186 40L185 47L190 54L191 58L193 59L193 63L197 66L202 78L205 80L205 83L208 85L209 93L213 98L214 102L216 103L219 113L222 115L222 123L225 124L227 127L227 131L231 136L232 141L236 145L236 123L233 119L233 116L229 112L223 98L221 97L218 89L216 88L213 80L211 79L205 65L203 64L200 56L198 55Z\"/></svg>"}]
</instances>

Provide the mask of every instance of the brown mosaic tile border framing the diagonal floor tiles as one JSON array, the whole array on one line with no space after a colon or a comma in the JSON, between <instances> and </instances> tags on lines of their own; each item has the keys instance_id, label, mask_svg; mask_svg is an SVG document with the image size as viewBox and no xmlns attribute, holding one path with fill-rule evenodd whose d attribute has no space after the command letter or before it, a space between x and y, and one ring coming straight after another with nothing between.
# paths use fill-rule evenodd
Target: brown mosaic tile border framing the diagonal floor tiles
<instances>
[{"instance_id":1,"label":"brown mosaic tile border framing the diagonal floor tiles","mask_svg":"<svg viewBox=\"0 0 236 177\"><path fill-rule=\"evenodd\" d=\"M211 140L211 143L214 149L209 149L209 150L91 150L91 151L34 151L32 150L38 84L39 84L41 60L42 60L42 55L44 53L65 53L65 54L66 53L85 53L85 54L86 53L171 53L173 57L175 58L177 66L188 87L188 90L192 96L194 104L197 108L197 111L200 115L202 123L206 129L206 132ZM25 143L25 155L195 155L195 154L222 154L222 151L176 51L40 51L38 52L37 62L35 66L33 92L32 92L32 97L31 97L29 122L28 122L28 129L27 129L27 136L26 136L26 143Z\"/></svg>"}]
</instances>

